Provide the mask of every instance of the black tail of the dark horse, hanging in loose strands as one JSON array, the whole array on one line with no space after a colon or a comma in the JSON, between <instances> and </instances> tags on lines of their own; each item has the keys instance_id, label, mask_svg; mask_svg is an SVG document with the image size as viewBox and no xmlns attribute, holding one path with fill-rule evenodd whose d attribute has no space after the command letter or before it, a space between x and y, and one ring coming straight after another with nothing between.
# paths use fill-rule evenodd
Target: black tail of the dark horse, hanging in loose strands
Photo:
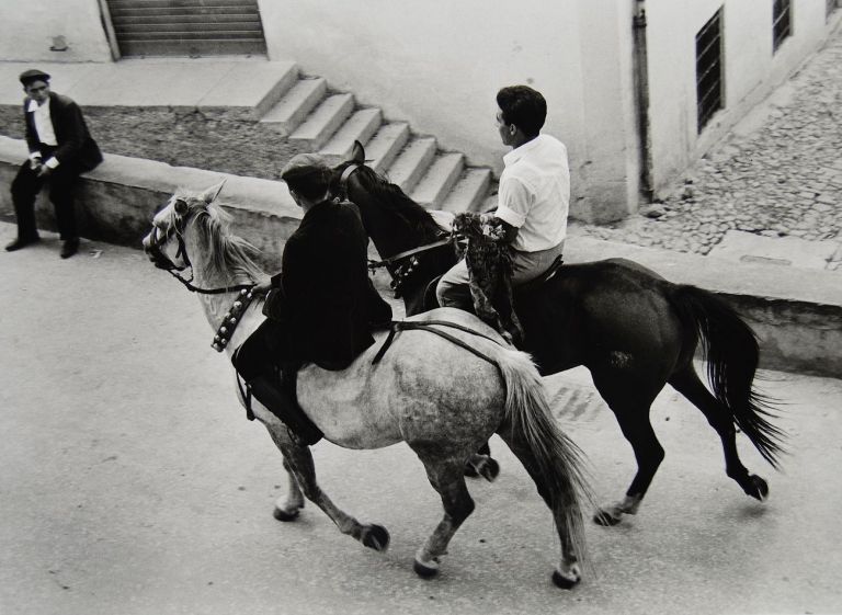
<instances>
[{"instance_id":1,"label":"black tail of the dark horse, hanging in loose strands","mask_svg":"<svg viewBox=\"0 0 842 615\"><path fill-rule=\"evenodd\" d=\"M753 387L760 350L754 331L722 299L695 286L679 285L671 293L673 306L702 341L714 397L733 417L763 458L778 468L784 432L773 425L772 402Z\"/></svg>"}]
</instances>

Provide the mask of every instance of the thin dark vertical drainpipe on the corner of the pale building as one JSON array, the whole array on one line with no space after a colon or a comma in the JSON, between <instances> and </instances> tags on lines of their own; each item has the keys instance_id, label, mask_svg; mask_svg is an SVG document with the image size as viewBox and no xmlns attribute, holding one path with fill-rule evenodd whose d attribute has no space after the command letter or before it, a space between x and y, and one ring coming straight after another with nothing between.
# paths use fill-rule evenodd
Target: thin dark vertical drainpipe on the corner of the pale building
<instances>
[{"instance_id":1,"label":"thin dark vertical drainpipe on the corner of the pale building","mask_svg":"<svg viewBox=\"0 0 842 615\"><path fill-rule=\"evenodd\" d=\"M637 130L640 148L640 194L647 203L652 202L652 139L649 124L649 67L646 42L646 0L635 2L632 19L634 30L634 82L637 102Z\"/></svg>"}]
</instances>

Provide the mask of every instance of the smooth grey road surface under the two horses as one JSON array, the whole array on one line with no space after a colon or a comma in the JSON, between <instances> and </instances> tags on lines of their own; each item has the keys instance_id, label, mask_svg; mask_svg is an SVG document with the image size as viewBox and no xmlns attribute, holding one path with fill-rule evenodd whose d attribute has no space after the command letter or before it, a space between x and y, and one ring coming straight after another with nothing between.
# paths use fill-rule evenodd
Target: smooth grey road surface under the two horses
<instances>
[{"instance_id":1,"label":"smooth grey road surface under the two horses","mask_svg":"<svg viewBox=\"0 0 842 615\"><path fill-rule=\"evenodd\" d=\"M14 228L0 225L0 242ZM314 505L272 517L280 454L236 402L198 301L139 251L58 241L0 252L0 613L841 613L842 381L765 372L789 433L785 471L741 440L770 481L761 504L722 470L718 439L671 390L652 411L667 459L636 517L589 525L594 572L550 582L548 511L497 440L502 474L471 481L477 510L437 579L412 557L441 504L405 446L315 449L322 488L391 533L386 554ZM547 381L589 456L601 500L634 459L573 371Z\"/></svg>"}]
</instances>

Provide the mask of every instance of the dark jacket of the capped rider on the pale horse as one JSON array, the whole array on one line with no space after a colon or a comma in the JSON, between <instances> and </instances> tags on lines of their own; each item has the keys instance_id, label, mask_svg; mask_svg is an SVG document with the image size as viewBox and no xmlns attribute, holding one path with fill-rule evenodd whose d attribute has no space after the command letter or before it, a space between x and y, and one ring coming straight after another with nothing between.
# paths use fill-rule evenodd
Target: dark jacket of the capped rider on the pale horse
<instances>
[{"instance_id":1,"label":"dark jacket of the capped rider on the pale horse","mask_svg":"<svg viewBox=\"0 0 842 615\"><path fill-rule=\"evenodd\" d=\"M373 326L388 322L391 307L368 278L367 244L354 205L325 201L305 214L265 310L282 326L284 358L342 369L374 343Z\"/></svg>"}]
</instances>

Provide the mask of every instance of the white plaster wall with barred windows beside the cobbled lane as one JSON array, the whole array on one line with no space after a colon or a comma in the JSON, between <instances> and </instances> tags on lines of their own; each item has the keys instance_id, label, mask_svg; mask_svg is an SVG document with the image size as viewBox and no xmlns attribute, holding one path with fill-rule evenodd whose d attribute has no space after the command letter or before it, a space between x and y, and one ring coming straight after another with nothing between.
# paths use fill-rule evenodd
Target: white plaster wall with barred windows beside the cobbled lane
<instances>
[{"instance_id":1,"label":"white plaster wall with barred windows beside the cobbled lane","mask_svg":"<svg viewBox=\"0 0 842 615\"><path fill-rule=\"evenodd\" d=\"M722 8L724 109L696 128L695 35ZM662 190L751 107L763 101L827 39L840 12L824 0L792 0L793 34L773 54L772 2L649 0L650 117L653 179Z\"/></svg>"}]
</instances>

